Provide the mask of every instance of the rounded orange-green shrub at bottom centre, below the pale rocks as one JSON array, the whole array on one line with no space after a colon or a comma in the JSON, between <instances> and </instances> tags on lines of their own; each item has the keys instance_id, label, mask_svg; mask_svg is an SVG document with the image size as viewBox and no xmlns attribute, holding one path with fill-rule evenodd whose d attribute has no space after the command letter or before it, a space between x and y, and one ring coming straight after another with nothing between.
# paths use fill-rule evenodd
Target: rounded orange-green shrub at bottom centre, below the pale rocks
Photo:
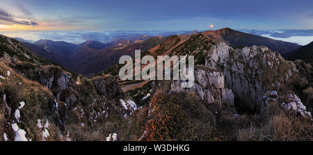
<instances>
[{"instance_id":1,"label":"rounded orange-green shrub at bottom centre, below the pale rocks","mask_svg":"<svg viewBox=\"0 0 313 155\"><path fill-rule=\"evenodd\" d=\"M151 108L152 107L152 108ZM146 128L147 140L205 140L209 138L207 117L210 113L204 102L184 92L157 92L152 97L150 117Z\"/></svg>"}]
</instances>

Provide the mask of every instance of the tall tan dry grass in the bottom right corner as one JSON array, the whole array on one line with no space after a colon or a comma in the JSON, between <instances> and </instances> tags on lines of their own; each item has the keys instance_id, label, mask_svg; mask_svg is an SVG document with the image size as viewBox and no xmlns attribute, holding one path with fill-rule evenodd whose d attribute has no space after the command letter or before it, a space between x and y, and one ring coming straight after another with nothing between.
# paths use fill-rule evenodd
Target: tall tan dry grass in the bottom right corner
<instances>
[{"instance_id":1,"label":"tall tan dry grass in the bottom right corner","mask_svg":"<svg viewBox=\"0 0 313 155\"><path fill-rule=\"evenodd\" d=\"M237 140L298 141L313 140L312 120L284 111L279 104L271 104L262 120L239 129Z\"/></svg>"}]
</instances>

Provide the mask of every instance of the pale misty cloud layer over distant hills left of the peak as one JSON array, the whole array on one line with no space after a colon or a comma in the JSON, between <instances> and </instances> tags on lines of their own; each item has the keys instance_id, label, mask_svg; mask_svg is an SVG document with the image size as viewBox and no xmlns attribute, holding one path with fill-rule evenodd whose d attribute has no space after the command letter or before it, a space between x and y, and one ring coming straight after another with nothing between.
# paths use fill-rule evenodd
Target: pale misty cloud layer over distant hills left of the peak
<instances>
[{"instance_id":1,"label":"pale misty cloud layer over distant hills left of the peak","mask_svg":"<svg viewBox=\"0 0 313 155\"><path fill-rule=\"evenodd\" d=\"M112 42L116 39L136 38L142 35L170 36L189 33L190 31L0 31L0 34L12 38L23 38L35 42L40 39L81 43L86 40Z\"/></svg>"}]
</instances>

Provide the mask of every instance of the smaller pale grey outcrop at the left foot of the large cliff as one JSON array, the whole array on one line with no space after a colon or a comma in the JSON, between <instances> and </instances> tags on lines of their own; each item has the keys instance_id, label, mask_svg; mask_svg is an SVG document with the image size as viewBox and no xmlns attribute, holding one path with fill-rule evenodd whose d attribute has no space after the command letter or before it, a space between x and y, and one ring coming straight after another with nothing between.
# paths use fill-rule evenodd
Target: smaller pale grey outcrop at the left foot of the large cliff
<instances>
[{"instance_id":1,"label":"smaller pale grey outcrop at the left foot of the large cliff","mask_svg":"<svg viewBox=\"0 0 313 155\"><path fill-rule=\"evenodd\" d=\"M234 106L234 94L232 90L225 88L225 77L223 72L209 67L196 66L195 83L191 88L182 88L183 81L173 81L172 92L195 92L200 99L211 102L226 103Z\"/></svg>"}]
</instances>

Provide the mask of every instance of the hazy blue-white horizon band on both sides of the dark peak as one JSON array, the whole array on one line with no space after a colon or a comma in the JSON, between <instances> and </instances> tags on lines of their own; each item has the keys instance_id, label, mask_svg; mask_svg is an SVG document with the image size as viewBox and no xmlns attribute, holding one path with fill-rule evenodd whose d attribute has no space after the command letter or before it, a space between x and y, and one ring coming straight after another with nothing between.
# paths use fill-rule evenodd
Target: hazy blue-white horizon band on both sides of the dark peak
<instances>
[{"instance_id":1,"label":"hazy blue-white horizon band on both sides of the dark peak","mask_svg":"<svg viewBox=\"0 0 313 155\"><path fill-rule=\"evenodd\" d=\"M216 30L212 28L211 30ZM282 40L285 42L293 42L300 45L309 44L313 41L313 29L312 30L255 30L255 29L235 29L236 31L241 31L244 33L251 33L254 35L263 36L266 38L271 38L274 40ZM182 34L191 31L206 31L206 30L177 30L177 31L131 31L131 30L118 30L118 31L0 31L0 34L6 35L11 38L22 38L29 42L35 42L38 40L53 40L53 41L65 41L74 44L79 44L87 40L96 40L99 42L111 42L113 40L112 36L121 36L126 34L131 35L150 35L150 36L169 36ZM209 31L209 29L207 30ZM292 33L290 32L292 31ZM303 35L303 31L306 31ZM309 32L307 32L309 31ZM295 33L297 32L297 33ZM277 37L277 34L285 34L287 37ZM298 34L300 33L300 34Z\"/></svg>"}]
</instances>

